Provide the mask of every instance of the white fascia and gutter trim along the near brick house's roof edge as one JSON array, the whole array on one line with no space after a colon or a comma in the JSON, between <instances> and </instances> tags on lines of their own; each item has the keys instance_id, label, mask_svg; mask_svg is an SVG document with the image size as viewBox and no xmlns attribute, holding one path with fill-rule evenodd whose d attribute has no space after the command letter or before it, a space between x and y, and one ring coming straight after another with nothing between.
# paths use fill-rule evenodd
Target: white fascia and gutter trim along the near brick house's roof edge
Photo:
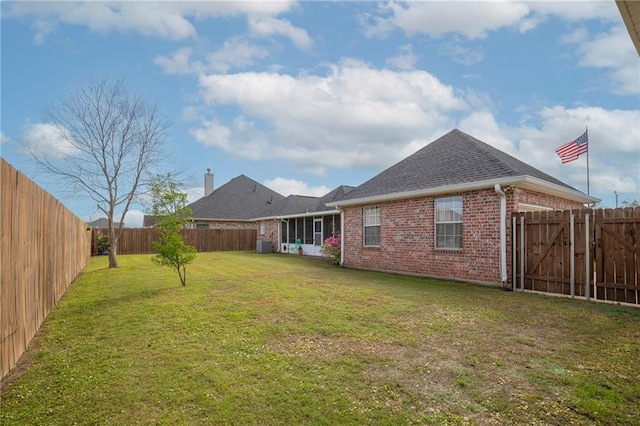
<instances>
[{"instance_id":1,"label":"white fascia and gutter trim along the near brick house's roof edge","mask_svg":"<svg viewBox=\"0 0 640 426\"><path fill-rule=\"evenodd\" d=\"M597 203L599 198L591 197L580 191L567 188L546 180L532 176L515 176L500 179L490 179L477 182L461 183L457 185L445 185L437 188L419 189L417 191L396 192L393 194L375 195L372 197L355 198L353 200L335 201L327 203L327 207L341 208L345 206L355 206L358 204L373 204L384 201L404 200L407 198L428 197L432 195L447 194L453 192L475 191L478 189L493 189L495 184L500 186L514 185L548 195L555 195L579 203Z\"/></svg>"}]
</instances>

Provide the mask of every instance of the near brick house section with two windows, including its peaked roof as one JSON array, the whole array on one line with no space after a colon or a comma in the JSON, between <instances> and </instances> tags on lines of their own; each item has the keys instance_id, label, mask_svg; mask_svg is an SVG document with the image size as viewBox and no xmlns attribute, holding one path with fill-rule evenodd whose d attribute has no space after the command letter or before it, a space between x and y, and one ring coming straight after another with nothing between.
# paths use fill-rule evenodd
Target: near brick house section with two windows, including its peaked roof
<instances>
[{"instance_id":1,"label":"near brick house section with two windows, including its peaked roof","mask_svg":"<svg viewBox=\"0 0 640 426\"><path fill-rule=\"evenodd\" d=\"M504 285L511 213L597 201L455 129L328 207L346 267Z\"/></svg>"}]
</instances>

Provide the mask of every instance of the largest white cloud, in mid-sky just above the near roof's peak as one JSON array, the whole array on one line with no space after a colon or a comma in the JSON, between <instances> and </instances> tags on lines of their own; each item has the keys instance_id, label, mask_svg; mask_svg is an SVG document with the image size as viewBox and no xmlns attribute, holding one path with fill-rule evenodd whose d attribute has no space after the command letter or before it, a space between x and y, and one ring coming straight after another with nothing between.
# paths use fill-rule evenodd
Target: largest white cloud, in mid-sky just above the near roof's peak
<instances>
[{"instance_id":1,"label":"largest white cloud, in mid-sky just above the near roof's peak","mask_svg":"<svg viewBox=\"0 0 640 426\"><path fill-rule=\"evenodd\" d=\"M424 144L467 104L424 71L379 70L354 60L325 76L212 74L200 78L203 100L241 110L230 127L207 120L194 138L252 159L280 158L299 170L387 166L405 145ZM419 136L416 136L419 135Z\"/></svg>"}]
</instances>

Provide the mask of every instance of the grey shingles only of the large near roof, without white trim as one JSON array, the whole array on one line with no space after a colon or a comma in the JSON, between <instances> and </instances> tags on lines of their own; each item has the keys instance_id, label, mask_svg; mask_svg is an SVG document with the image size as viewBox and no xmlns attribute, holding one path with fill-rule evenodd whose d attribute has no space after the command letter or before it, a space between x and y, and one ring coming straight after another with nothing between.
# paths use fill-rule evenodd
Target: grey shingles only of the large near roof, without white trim
<instances>
[{"instance_id":1,"label":"grey shingles only of the large near roof, without white trim","mask_svg":"<svg viewBox=\"0 0 640 426\"><path fill-rule=\"evenodd\" d=\"M531 176L574 188L458 129L369 179L343 200Z\"/></svg>"}]
</instances>

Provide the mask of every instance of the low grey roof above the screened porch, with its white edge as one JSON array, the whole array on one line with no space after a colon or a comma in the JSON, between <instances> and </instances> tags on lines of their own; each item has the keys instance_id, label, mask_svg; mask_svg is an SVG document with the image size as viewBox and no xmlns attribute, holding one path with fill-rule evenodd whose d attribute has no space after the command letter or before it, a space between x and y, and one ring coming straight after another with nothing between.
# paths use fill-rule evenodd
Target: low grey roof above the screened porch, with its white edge
<instances>
[{"instance_id":1,"label":"low grey roof above the screened porch, with its white edge","mask_svg":"<svg viewBox=\"0 0 640 426\"><path fill-rule=\"evenodd\" d=\"M353 188L353 186L341 185L322 197L289 195L265 209L258 219L302 216L307 214L316 215L317 213L336 211L331 207L327 207L326 204L342 199L345 194L349 193Z\"/></svg>"}]
</instances>

